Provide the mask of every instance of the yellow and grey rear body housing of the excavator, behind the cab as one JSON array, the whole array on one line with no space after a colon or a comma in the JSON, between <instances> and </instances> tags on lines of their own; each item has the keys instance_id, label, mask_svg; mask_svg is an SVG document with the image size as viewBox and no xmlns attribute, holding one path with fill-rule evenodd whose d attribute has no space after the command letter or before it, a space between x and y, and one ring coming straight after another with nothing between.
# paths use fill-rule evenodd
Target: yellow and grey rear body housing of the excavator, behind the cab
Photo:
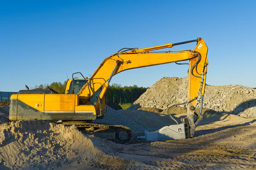
<instances>
[{"instance_id":1,"label":"yellow and grey rear body housing of the excavator, behind the cab","mask_svg":"<svg viewBox=\"0 0 256 170\"><path fill-rule=\"evenodd\" d=\"M9 119L95 120L95 106L90 102L77 106L77 101L76 94L15 94Z\"/></svg>"}]
</instances>

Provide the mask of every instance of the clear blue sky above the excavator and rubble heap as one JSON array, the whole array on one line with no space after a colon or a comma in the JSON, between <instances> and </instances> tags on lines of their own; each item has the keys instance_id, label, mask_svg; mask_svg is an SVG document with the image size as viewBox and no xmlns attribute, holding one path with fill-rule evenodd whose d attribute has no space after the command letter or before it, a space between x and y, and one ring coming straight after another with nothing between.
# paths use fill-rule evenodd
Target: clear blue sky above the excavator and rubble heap
<instances>
[{"instance_id":1,"label":"clear blue sky above the excavator and rubble heap","mask_svg":"<svg viewBox=\"0 0 256 170\"><path fill-rule=\"evenodd\" d=\"M209 47L208 84L256 87L255 9L255 1L0 0L0 91L63 82L77 71L90 76L123 47L198 37ZM145 67L111 83L150 87L163 76L187 76L187 70Z\"/></svg>"}]
</instances>

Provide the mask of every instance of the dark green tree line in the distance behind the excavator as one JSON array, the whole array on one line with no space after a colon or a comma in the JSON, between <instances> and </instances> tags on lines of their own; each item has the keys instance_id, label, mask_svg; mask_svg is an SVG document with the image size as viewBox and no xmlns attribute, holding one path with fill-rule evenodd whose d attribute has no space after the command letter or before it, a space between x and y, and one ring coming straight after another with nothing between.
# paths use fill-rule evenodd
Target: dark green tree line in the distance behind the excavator
<instances>
[{"instance_id":1,"label":"dark green tree line in the distance behind the excavator","mask_svg":"<svg viewBox=\"0 0 256 170\"><path fill-rule=\"evenodd\" d=\"M50 87L56 92L63 94L65 93L66 86L67 81L64 81L64 83L53 82L51 85L36 85L34 89L47 89L47 87ZM147 88L138 87L137 85L122 87L114 83L108 87L106 97L113 103L134 103L146 90Z\"/></svg>"}]
</instances>

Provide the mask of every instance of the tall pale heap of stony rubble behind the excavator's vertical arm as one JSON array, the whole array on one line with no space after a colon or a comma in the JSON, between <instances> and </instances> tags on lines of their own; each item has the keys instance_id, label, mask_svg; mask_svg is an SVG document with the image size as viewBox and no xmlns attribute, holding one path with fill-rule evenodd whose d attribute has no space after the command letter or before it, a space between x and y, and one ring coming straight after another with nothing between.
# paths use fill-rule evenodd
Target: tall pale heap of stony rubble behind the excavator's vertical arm
<instances>
[{"instance_id":1,"label":"tall pale heap of stony rubble behind the excavator's vertical arm","mask_svg":"<svg viewBox=\"0 0 256 170\"><path fill-rule=\"evenodd\" d=\"M173 104L187 101L188 77L164 77L134 102L142 108L164 110ZM200 99L198 99L199 101ZM239 114L247 118L256 117L256 90L242 85L206 85L204 108L219 112ZM200 107L197 103L196 107Z\"/></svg>"}]
</instances>

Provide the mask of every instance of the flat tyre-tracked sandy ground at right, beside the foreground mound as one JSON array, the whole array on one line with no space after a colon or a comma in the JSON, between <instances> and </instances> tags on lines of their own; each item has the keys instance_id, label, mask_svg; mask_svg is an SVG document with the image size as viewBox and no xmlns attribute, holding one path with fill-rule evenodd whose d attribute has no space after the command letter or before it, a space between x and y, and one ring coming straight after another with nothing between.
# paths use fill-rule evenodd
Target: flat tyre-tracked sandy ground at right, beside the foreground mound
<instances>
[{"instance_id":1,"label":"flat tyre-tracked sandy ground at right, beside the foreground mound","mask_svg":"<svg viewBox=\"0 0 256 170\"><path fill-rule=\"evenodd\" d=\"M120 146L115 154L142 162L136 169L256 169L255 127L255 119L210 113L193 138L141 141Z\"/></svg>"}]
</instances>

